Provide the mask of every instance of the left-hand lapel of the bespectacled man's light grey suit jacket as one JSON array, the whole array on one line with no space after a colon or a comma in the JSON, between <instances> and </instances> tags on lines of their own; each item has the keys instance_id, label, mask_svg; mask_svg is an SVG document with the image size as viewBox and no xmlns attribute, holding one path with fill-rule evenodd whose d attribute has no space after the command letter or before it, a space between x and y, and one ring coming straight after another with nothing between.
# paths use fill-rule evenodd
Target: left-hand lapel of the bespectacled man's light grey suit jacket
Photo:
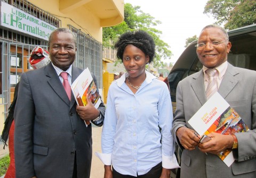
<instances>
[{"instance_id":1,"label":"left-hand lapel of the bespectacled man's light grey suit jacket","mask_svg":"<svg viewBox=\"0 0 256 178\"><path fill-rule=\"evenodd\" d=\"M193 77L191 87L193 88L199 102L204 105L206 102L205 87L204 87L204 73L203 70L196 73ZM203 95L202 95L203 94Z\"/></svg>"}]
</instances>

